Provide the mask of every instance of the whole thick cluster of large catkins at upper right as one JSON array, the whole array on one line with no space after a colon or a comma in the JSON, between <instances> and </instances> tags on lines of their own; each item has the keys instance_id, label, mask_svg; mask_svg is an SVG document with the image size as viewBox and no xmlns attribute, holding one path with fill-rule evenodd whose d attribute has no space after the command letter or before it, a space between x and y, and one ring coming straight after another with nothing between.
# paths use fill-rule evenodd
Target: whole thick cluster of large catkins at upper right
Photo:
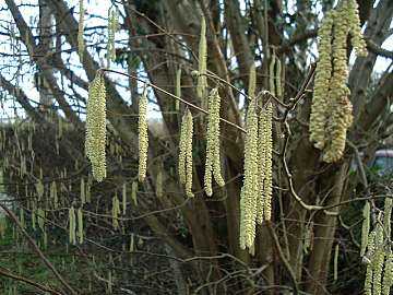
<instances>
[{"instance_id":1,"label":"whole thick cluster of large catkins at upper right","mask_svg":"<svg viewBox=\"0 0 393 295\"><path fill-rule=\"evenodd\" d=\"M319 30L319 62L310 116L310 140L323 151L326 163L344 153L346 131L353 121L347 86L347 36L357 56L366 56L356 0L346 0L326 13Z\"/></svg>"}]
</instances>

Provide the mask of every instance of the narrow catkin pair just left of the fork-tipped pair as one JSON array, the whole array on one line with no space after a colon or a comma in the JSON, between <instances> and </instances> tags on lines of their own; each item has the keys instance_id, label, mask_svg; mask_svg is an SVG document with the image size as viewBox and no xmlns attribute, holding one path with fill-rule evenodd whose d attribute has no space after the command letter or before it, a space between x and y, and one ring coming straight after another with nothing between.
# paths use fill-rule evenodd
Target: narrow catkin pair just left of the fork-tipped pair
<instances>
[{"instance_id":1,"label":"narrow catkin pair just left of the fork-tipped pair","mask_svg":"<svg viewBox=\"0 0 393 295\"><path fill-rule=\"evenodd\" d=\"M180 143L179 143L179 179L180 184L186 185L186 194L189 198L192 193L192 137L193 137L193 121L192 114L189 109L186 110L181 120Z\"/></svg>"}]
</instances>

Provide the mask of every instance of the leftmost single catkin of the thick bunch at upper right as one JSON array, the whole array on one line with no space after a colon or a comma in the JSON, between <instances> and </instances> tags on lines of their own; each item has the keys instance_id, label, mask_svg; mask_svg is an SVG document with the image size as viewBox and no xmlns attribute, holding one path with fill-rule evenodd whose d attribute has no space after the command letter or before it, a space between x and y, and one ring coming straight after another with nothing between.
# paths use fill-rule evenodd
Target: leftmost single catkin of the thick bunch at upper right
<instances>
[{"instance_id":1,"label":"leftmost single catkin of the thick bunch at upper right","mask_svg":"<svg viewBox=\"0 0 393 295\"><path fill-rule=\"evenodd\" d=\"M315 69L314 91L310 114L310 141L317 149L325 145L325 122L326 122L326 93L329 92L330 79L332 75L332 28L334 11L329 11L318 31L319 61Z\"/></svg>"}]
</instances>

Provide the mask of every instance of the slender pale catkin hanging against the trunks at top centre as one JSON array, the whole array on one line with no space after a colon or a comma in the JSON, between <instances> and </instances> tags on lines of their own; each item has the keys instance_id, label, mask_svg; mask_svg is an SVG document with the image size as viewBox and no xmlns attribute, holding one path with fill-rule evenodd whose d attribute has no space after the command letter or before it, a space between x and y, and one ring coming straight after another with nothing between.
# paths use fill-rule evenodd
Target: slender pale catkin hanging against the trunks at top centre
<instances>
[{"instance_id":1,"label":"slender pale catkin hanging against the trunks at top centre","mask_svg":"<svg viewBox=\"0 0 393 295\"><path fill-rule=\"evenodd\" d=\"M204 108L205 93L207 87L207 43L206 43L206 21L204 17L201 20L201 36L199 43L199 52L198 52L198 84L196 84L196 94L202 99L202 107Z\"/></svg>"}]
</instances>

